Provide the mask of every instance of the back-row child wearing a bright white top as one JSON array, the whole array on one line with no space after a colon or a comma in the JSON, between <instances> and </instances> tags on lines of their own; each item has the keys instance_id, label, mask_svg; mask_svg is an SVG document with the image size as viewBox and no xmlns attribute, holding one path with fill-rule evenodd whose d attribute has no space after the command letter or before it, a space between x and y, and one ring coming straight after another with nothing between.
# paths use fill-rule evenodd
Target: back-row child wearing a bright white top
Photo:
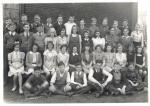
<instances>
[{"instance_id":1,"label":"back-row child wearing a bright white top","mask_svg":"<svg viewBox=\"0 0 150 106\"><path fill-rule=\"evenodd\" d=\"M71 35L71 30L73 26L76 26L76 23L74 22L74 16L69 16L69 21L64 24L66 28L66 35L68 36L68 39L70 38Z\"/></svg>"}]
</instances>

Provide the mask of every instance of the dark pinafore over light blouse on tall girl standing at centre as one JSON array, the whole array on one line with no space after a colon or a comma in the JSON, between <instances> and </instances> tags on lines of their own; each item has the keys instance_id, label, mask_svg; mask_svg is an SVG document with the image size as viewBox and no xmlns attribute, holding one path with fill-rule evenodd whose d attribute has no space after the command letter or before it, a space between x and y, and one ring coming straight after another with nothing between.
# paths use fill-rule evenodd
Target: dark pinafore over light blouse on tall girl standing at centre
<instances>
[{"instance_id":1,"label":"dark pinafore over light blouse on tall girl standing at centre","mask_svg":"<svg viewBox=\"0 0 150 106\"><path fill-rule=\"evenodd\" d=\"M71 34L68 44L69 53L72 52L73 47L77 47L78 53L80 52L80 35L78 34Z\"/></svg>"}]
</instances>

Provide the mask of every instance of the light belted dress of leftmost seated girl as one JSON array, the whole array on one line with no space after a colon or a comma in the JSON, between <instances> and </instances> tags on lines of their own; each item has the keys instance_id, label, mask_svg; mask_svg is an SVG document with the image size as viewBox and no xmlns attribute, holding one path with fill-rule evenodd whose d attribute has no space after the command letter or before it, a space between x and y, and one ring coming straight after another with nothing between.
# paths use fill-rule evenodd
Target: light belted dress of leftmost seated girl
<instances>
[{"instance_id":1,"label":"light belted dress of leftmost seated girl","mask_svg":"<svg viewBox=\"0 0 150 106\"><path fill-rule=\"evenodd\" d=\"M22 65L22 60L25 58L25 53L23 52L11 52L8 54L8 60L12 62L12 66L9 66L8 76L16 75L17 73L24 73L24 66ZM14 67L16 68L14 68Z\"/></svg>"}]
</instances>

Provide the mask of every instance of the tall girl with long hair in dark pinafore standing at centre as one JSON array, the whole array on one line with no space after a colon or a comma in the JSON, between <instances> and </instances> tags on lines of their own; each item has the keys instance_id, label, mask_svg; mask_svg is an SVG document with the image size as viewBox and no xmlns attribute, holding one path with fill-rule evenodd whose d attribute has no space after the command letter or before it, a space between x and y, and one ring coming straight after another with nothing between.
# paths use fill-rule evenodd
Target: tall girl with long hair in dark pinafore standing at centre
<instances>
[{"instance_id":1,"label":"tall girl with long hair in dark pinafore standing at centre","mask_svg":"<svg viewBox=\"0 0 150 106\"><path fill-rule=\"evenodd\" d=\"M78 53L81 53L81 42L82 39L81 36L78 34L77 26L74 25L72 27L71 35L69 38L69 45L68 45L69 53L72 52L71 50L74 46L77 47Z\"/></svg>"}]
</instances>

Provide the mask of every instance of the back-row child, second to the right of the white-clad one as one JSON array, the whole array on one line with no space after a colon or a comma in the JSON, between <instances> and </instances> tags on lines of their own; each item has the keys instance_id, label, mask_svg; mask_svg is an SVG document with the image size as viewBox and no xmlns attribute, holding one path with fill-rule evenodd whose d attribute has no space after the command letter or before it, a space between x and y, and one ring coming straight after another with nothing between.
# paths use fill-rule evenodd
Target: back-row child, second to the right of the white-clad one
<instances>
[{"instance_id":1,"label":"back-row child, second to the right of the white-clad one","mask_svg":"<svg viewBox=\"0 0 150 106\"><path fill-rule=\"evenodd\" d=\"M98 31L99 28L97 27L97 19L96 18L91 18L91 26L89 28L90 31L90 38L94 37L95 31Z\"/></svg>"}]
</instances>

